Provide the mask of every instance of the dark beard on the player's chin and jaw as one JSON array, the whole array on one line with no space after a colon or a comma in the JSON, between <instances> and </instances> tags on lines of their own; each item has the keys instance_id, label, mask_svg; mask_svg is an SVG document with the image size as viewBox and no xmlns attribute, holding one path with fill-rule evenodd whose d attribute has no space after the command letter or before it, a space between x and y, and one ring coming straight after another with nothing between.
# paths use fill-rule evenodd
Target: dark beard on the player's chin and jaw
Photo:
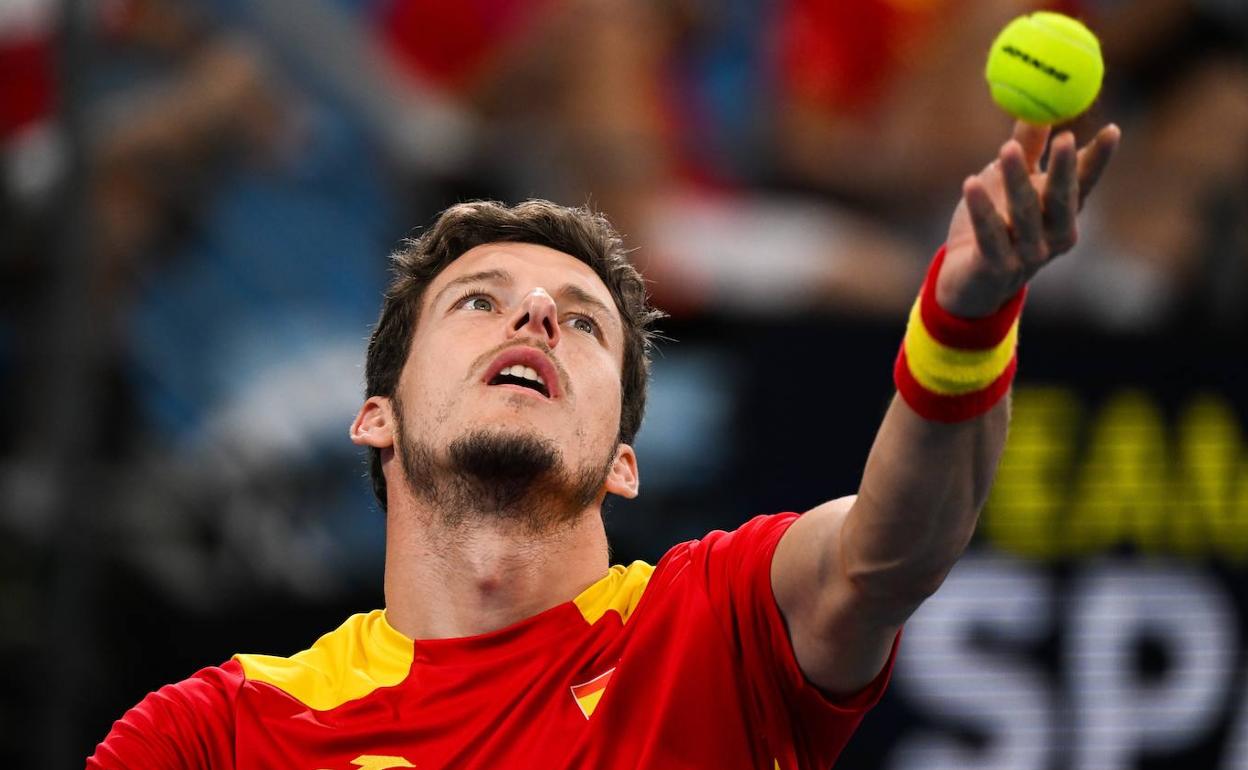
<instances>
[{"instance_id":1,"label":"dark beard on the player's chin and jaw","mask_svg":"<svg viewBox=\"0 0 1248 770\"><path fill-rule=\"evenodd\" d=\"M548 439L480 428L452 441L439 458L403 429L397 399L394 413L408 488L448 527L493 520L532 534L562 529L602 493L615 457L613 448L604 462L573 472Z\"/></svg>"}]
</instances>

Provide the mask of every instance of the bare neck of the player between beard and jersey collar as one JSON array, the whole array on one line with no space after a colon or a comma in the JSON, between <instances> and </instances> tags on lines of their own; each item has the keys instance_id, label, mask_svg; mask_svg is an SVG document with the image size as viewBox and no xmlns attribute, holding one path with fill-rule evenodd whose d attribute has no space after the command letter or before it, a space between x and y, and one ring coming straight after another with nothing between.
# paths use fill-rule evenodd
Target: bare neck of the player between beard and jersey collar
<instances>
[{"instance_id":1,"label":"bare neck of the player between beard and jersey collar","mask_svg":"<svg viewBox=\"0 0 1248 770\"><path fill-rule=\"evenodd\" d=\"M505 628L572 600L609 567L598 505L534 534L497 520L447 527L404 504L386 530L386 616L409 639Z\"/></svg>"}]
</instances>

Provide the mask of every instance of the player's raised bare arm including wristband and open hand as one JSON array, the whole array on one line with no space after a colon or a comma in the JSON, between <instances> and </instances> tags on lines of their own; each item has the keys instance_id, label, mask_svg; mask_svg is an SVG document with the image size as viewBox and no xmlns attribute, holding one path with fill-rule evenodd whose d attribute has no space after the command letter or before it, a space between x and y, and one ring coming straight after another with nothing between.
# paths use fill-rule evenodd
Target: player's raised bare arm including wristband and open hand
<instances>
[{"instance_id":1,"label":"player's raised bare arm including wristband and open hand","mask_svg":"<svg viewBox=\"0 0 1248 770\"><path fill-rule=\"evenodd\" d=\"M1022 292L1075 245L1076 213L1118 136L1106 126L1076 150L1073 135L1063 132L1041 172L1048 130L1020 122L997 158L963 182L943 255L925 283L927 306L921 313L916 305L911 317L912 364L899 358L900 393L857 495L806 512L773 560L773 590L797 663L826 693L854 693L879 674L901 624L970 542L1005 447L1010 329ZM930 333L925 321L943 323L945 333ZM916 382L909 372L922 344L940 348L935 378L927 372ZM960 377L968 388L982 387L962 394Z\"/></svg>"}]
</instances>

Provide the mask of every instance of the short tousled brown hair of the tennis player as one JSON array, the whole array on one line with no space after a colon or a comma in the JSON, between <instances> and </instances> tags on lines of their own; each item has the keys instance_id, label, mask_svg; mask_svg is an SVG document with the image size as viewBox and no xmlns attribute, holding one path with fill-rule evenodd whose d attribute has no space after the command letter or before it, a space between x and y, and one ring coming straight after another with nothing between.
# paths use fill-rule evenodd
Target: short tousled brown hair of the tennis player
<instances>
[{"instance_id":1,"label":"short tousled brown hair of the tennis player","mask_svg":"<svg viewBox=\"0 0 1248 770\"><path fill-rule=\"evenodd\" d=\"M443 211L421 237L404 241L391 256L393 278L368 339L366 398L394 397L429 283L468 250L499 242L535 243L562 251L592 267L607 285L624 326L619 441L633 443L645 411L654 347L650 326L664 314L650 307L645 282L629 262L623 238L607 217L587 207L570 208L537 200L517 206L493 201L459 203ZM384 510L381 451L368 452L373 494Z\"/></svg>"}]
</instances>

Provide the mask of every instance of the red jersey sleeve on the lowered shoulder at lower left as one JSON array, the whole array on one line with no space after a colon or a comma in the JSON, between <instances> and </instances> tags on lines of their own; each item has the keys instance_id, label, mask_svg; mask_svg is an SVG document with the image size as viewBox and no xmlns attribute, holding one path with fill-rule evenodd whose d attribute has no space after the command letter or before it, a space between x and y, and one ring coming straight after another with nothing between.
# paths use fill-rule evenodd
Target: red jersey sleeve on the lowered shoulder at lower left
<instances>
[{"instance_id":1,"label":"red jersey sleeve on the lowered shoulder at lower left","mask_svg":"<svg viewBox=\"0 0 1248 770\"><path fill-rule=\"evenodd\" d=\"M233 768L233 701L242 666L228 661L150 693L112 725L87 770Z\"/></svg>"}]
</instances>

